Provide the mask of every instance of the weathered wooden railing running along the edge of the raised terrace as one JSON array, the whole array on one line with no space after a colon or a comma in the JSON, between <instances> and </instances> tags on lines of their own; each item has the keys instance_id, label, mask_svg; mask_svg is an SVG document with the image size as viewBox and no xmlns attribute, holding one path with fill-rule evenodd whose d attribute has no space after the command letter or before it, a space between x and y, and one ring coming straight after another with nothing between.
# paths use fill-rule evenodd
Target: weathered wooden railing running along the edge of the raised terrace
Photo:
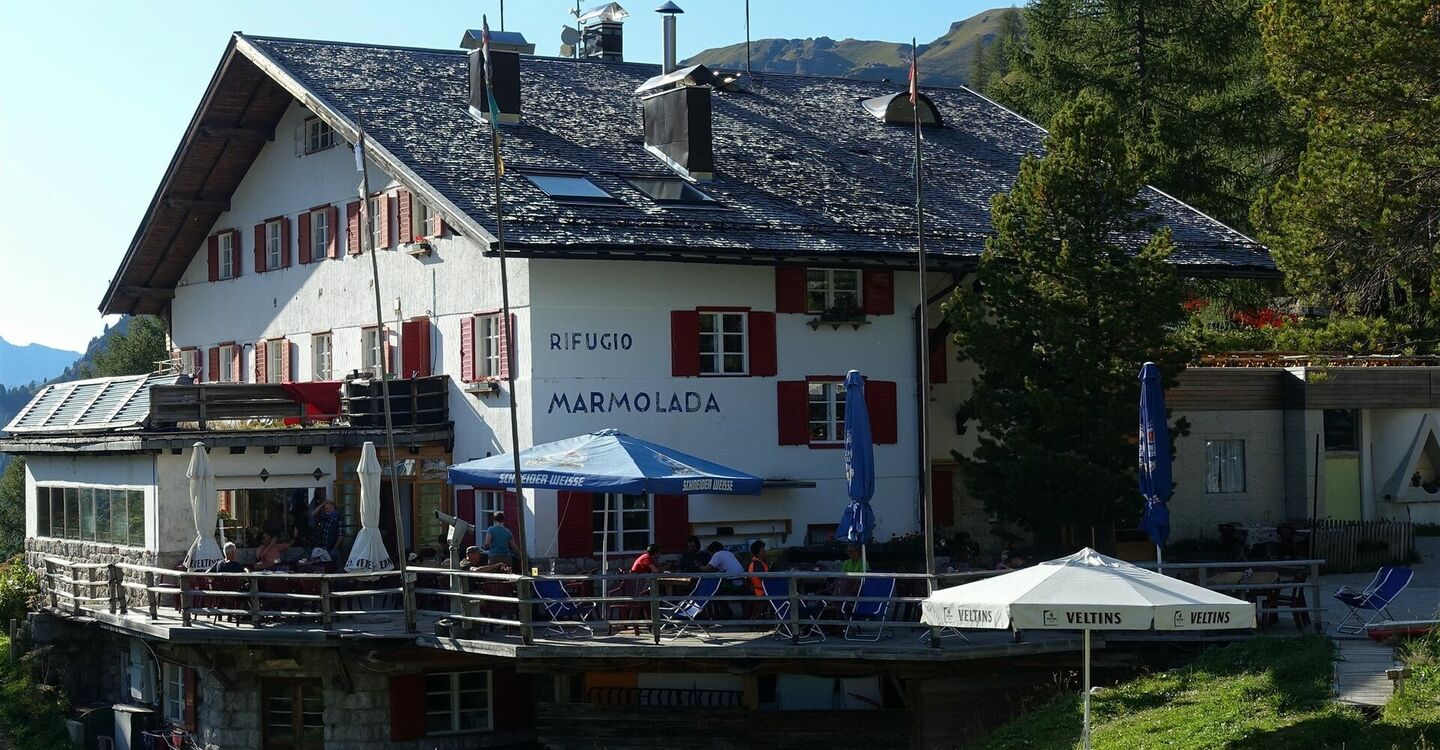
<instances>
[{"instance_id":1,"label":"weathered wooden railing running along the edge of the raised terrace","mask_svg":"<svg viewBox=\"0 0 1440 750\"><path fill-rule=\"evenodd\" d=\"M1263 570L1251 563L1166 563L1165 573L1201 586L1257 602L1261 626L1283 615L1305 615L1323 631L1319 566L1322 560L1295 560L1283 567L1303 580L1266 583L1217 582L1224 573ZM1153 564L1153 563L1151 563ZM724 573L514 576L471 573L442 567L409 567L409 595L418 616L448 626L441 635L456 638L518 638L534 643L541 635L573 636L603 629L645 631L660 645L684 628L704 633L721 628L726 635L749 631L783 632L795 642L821 632L834 635L847 628L896 635L894 645L936 646L939 632L920 620L920 602L940 587L999 574L965 571L940 576L922 573L828 573L791 570L746 573L743 587L724 589ZM700 582L721 579L721 587L691 615L675 607L694 600ZM752 579L785 580L786 595L756 596ZM860 596L868 579L894 582L893 596ZM540 596L536 583L549 580L564 595ZM1303 600L1280 600L1280 592L1303 590ZM43 561L42 596L52 610L84 616L105 610L130 615L138 609L148 620L161 618L189 628L200 618L220 626L318 625L393 632L405 626L405 587L395 570L383 573L202 573L137 566L128 563L72 563L55 557ZM855 606L883 603L881 620L850 616ZM785 606L788 605L788 606ZM739 612L732 612L739 609ZM559 612L559 616L556 613ZM783 613L783 619L778 619ZM734 615L734 616L727 616ZM360 618L364 616L364 618ZM379 619L376 619L379 616ZM909 633L909 636L907 636Z\"/></svg>"}]
</instances>

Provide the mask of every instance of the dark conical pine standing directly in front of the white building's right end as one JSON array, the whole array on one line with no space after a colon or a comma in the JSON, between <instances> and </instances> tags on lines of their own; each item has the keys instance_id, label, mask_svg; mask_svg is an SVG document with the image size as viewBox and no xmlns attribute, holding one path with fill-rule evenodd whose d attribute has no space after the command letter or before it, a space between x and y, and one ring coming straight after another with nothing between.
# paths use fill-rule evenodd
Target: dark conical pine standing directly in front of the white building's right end
<instances>
[{"instance_id":1,"label":"dark conical pine standing directly in front of the white building's right end","mask_svg":"<svg viewBox=\"0 0 1440 750\"><path fill-rule=\"evenodd\" d=\"M962 410L979 443L971 492L1037 531L1106 525L1139 511L1133 435L1140 363L1174 377L1185 353L1168 230L1140 216L1139 150L1084 95L1051 124L994 199L995 235L969 291L946 304L959 357L979 376Z\"/></svg>"}]
</instances>

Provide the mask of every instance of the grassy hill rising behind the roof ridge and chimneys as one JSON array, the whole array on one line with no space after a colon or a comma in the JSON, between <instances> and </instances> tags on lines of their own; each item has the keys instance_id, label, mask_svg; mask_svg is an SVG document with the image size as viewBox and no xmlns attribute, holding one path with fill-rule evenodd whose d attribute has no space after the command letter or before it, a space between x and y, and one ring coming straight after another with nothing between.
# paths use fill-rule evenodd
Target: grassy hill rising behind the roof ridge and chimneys
<instances>
[{"instance_id":1,"label":"grassy hill rising behind the roof ridge and chimneys","mask_svg":"<svg viewBox=\"0 0 1440 750\"><path fill-rule=\"evenodd\" d=\"M939 39L920 45L920 79L923 83L959 86L971 83L975 48L989 52L1005 29L1007 14L1014 14L1014 27L1024 24L1018 9L995 9L955 22ZM744 43L707 49L685 60L707 68L744 69ZM750 66L757 72L909 79L910 45L821 36L816 39L759 39L750 43Z\"/></svg>"}]
</instances>

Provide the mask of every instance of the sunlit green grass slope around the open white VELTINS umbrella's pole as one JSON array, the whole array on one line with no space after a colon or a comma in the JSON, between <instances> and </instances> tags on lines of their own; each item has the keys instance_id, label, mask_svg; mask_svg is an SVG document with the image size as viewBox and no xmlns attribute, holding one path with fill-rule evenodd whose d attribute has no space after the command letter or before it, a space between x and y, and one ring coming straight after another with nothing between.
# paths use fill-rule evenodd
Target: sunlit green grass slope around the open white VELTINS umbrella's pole
<instances>
[{"instance_id":1,"label":"sunlit green grass slope around the open white VELTINS umbrella's pole","mask_svg":"<svg viewBox=\"0 0 1440 750\"><path fill-rule=\"evenodd\" d=\"M1185 668L1092 698L1096 750L1411 750L1440 747L1440 638L1407 646L1407 695L1371 721L1331 701L1322 636L1214 648ZM1061 695L968 750L1079 747L1080 695Z\"/></svg>"}]
</instances>

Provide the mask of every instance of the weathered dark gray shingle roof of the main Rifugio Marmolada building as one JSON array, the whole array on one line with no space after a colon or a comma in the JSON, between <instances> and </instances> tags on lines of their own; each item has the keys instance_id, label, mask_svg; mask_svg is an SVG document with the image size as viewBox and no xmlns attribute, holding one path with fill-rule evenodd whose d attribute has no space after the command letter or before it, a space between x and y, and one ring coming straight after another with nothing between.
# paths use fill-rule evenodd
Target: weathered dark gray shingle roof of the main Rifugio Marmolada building
<instances>
[{"instance_id":1,"label":"weathered dark gray shingle roof of the main Rifugio Marmolada building","mask_svg":"<svg viewBox=\"0 0 1440 750\"><path fill-rule=\"evenodd\" d=\"M488 127L467 111L462 50L246 37L367 137L482 226L491 214ZM505 233L531 255L700 252L707 256L877 256L914 252L913 137L863 99L897 85L763 75L714 94L716 177L701 187L723 209L657 206L625 176L671 174L644 150L635 88L658 66L523 56L523 118L503 127ZM991 196L1009 189L1044 132L966 89L929 88L946 127L926 131L926 243L935 256L976 256L991 232ZM547 199L526 170L576 170L619 204ZM1273 272L1254 240L1148 191L1174 230L1175 261L1218 274Z\"/></svg>"}]
</instances>

